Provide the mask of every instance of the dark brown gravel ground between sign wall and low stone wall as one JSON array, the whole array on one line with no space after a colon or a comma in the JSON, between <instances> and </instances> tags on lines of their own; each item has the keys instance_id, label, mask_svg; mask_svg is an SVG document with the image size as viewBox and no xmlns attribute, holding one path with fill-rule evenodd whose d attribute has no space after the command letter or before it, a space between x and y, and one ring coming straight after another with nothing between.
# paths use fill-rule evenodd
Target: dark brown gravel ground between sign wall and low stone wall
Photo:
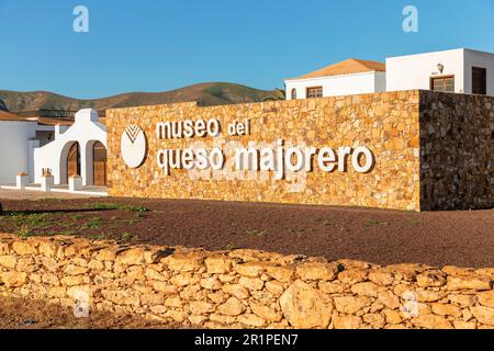
<instances>
[{"instance_id":1,"label":"dark brown gravel ground between sign wall and low stone wall","mask_svg":"<svg viewBox=\"0 0 494 351\"><path fill-rule=\"evenodd\" d=\"M0 231L262 249L379 264L494 267L494 211L413 213L131 199L1 200Z\"/></svg>"}]
</instances>

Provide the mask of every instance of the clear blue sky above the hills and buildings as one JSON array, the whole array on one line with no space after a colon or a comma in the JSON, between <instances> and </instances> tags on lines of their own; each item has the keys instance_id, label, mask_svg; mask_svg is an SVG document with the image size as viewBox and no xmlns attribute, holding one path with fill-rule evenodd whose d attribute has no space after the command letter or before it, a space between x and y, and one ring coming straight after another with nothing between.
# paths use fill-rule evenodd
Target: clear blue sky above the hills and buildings
<instances>
[{"instance_id":1,"label":"clear blue sky above the hills and buildings","mask_svg":"<svg viewBox=\"0 0 494 351\"><path fill-rule=\"evenodd\" d=\"M89 9L75 33L72 10ZM402 30L406 4L419 33ZM494 52L494 0L0 0L0 89L75 98L197 82L283 87L332 63Z\"/></svg>"}]
</instances>

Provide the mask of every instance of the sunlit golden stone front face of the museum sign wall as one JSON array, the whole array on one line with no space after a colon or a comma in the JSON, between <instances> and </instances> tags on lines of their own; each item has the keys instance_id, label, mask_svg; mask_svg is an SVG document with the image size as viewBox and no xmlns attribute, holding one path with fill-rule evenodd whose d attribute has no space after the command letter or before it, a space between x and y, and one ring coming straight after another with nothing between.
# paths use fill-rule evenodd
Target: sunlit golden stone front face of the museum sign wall
<instances>
[{"instance_id":1,"label":"sunlit golden stone front face of the museum sign wall","mask_svg":"<svg viewBox=\"0 0 494 351\"><path fill-rule=\"evenodd\" d=\"M279 101L256 104L198 107L194 103L144 106L106 112L109 177L114 196L200 199L419 210L418 91L347 98ZM158 123L217 118L218 137L158 139ZM250 133L228 135L233 122L248 121ZM121 138L128 125L139 126L148 143L144 163L131 169L122 158ZM373 168L357 172L349 157L346 169L332 172L289 173L276 180L273 172L235 172L233 155L223 170L200 174L158 167L158 150L191 145L217 146L228 154L237 147L269 145L368 148ZM232 151L233 152L233 151ZM313 163L317 163L314 157ZM233 172L231 171L233 170ZM197 179L200 180L197 180Z\"/></svg>"}]
</instances>

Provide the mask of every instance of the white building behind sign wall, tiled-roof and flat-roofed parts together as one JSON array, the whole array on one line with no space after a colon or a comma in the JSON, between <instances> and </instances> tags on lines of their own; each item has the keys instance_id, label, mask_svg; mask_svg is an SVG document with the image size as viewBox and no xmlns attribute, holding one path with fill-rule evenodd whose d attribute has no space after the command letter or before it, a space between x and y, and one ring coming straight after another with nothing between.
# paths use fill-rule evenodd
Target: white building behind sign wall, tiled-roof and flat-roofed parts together
<instances>
[{"instance_id":1,"label":"white building behind sign wall, tiled-roof and flat-roofed parts together","mask_svg":"<svg viewBox=\"0 0 494 351\"><path fill-rule=\"evenodd\" d=\"M453 49L388 58L348 59L285 80L287 100L383 91L436 90L494 95L494 54Z\"/></svg>"}]
</instances>

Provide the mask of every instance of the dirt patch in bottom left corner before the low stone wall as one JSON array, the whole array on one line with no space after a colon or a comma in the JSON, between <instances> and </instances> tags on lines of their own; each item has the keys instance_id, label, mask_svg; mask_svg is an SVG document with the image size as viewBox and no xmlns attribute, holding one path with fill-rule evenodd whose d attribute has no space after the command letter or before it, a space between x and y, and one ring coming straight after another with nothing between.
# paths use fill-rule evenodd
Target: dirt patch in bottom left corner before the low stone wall
<instances>
[{"instance_id":1,"label":"dirt patch in bottom left corner before the low stone wall","mask_svg":"<svg viewBox=\"0 0 494 351\"><path fill-rule=\"evenodd\" d=\"M76 318L70 308L41 302L0 297L0 329L180 329L136 316L91 313Z\"/></svg>"}]
</instances>

